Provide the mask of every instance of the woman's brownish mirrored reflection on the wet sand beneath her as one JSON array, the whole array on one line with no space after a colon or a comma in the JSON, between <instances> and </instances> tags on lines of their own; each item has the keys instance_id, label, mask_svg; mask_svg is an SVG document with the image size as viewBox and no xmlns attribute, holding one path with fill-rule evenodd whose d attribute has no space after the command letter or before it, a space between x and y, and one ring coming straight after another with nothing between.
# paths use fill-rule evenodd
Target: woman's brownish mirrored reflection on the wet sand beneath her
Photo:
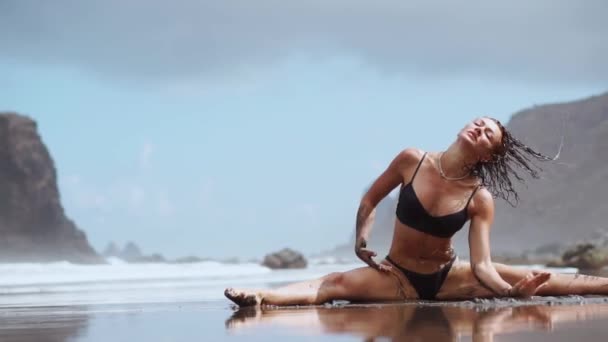
<instances>
[{"instance_id":1,"label":"woman's brownish mirrored reflection on the wet sand beneath her","mask_svg":"<svg viewBox=\"0 0 608 342\"><path fill-rule=\"evenodd\" d=\"M464 336L474 341L492 341L499 334L553 331L560 323L607 318L607 304L244 308L226 321L226 328L243 332L252 327L272 326L303 334L350 334L369 341L376 337L393 341L451 341Z\"/></svg>"}]
</instances>

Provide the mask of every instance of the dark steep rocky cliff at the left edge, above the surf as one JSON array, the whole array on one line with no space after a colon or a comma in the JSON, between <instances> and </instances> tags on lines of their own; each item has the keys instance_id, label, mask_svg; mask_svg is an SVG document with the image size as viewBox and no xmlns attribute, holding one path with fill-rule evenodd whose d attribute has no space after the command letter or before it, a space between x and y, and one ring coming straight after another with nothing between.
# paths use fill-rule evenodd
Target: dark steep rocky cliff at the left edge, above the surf
<instances>
[{"instance_id":1,"label":"dark steep rocky cliff at the left edge, above the surf","mask_svg":"<svg viewBox=\"0 0 608 342\"><path fill-rule=\"evenodd\" d=\"M0 113L0 262L57 260L102 261L65 216L36 123Z\"/></svg>"}]
</instances>

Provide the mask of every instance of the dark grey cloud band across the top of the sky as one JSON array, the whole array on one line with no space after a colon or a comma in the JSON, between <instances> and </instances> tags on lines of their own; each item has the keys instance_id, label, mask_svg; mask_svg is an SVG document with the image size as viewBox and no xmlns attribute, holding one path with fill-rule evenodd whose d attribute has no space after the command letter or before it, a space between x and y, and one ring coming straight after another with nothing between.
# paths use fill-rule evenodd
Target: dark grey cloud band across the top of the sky
<instances>
[{"instance_id":1,"label":"dark grey cloud band across the top of the sky","mask_svg":"<svg viewBox=\"0 0 608 342\"><path fill-rule=\"evenodd\" d=\"M605 83L606 13L604 0L8 0L0 41L4 58L132 81L348 55L389 73Z\"/></svg>"}]
</instances>

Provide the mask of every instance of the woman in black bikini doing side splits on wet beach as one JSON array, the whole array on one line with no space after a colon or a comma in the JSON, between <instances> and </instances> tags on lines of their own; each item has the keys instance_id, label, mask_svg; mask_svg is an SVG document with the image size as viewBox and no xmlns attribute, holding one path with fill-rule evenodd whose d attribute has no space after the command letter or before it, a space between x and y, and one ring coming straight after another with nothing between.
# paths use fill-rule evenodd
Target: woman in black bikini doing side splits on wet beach
<instances>
[{"instance_id":1,"label":"woman in black bikini doing side splits on wet beach","mask_svg":"<svg viewBox=\"0 0 608 342\"><path fill-rule=\"evenodd\" d=\"M550 160L492 118L467 124L445 152L399 153L361 199L355 253L368 266L277 289L226 289L240 306L404 299L608 294L608 278L531 272L490 259L494 197L517 201L516 168L538 177L531 159ZM378 202L400 184L393 240L381 262L366 248ZM470 262L459 262L451 237L470 220Z\"/></svg>"}]
</instances>

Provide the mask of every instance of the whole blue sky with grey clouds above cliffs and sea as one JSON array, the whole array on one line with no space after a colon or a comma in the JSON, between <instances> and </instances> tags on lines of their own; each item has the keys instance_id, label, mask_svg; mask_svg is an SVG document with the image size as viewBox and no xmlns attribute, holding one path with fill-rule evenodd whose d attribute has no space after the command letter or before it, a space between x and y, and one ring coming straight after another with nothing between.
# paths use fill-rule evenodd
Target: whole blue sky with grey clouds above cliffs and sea
<instances>
[{"instance_id":1,"label":"whole blue sky with grey clouds above cliffs and sea","mask_svg":"<svg viewBox=\"0 0 608 342\"><path fill-rule=\"evenodd\" d=\"M39 122L97 249L317 252L407 146L608 89L606 1L0 2L0 110Z\"/></svg>"}]
</instances>

